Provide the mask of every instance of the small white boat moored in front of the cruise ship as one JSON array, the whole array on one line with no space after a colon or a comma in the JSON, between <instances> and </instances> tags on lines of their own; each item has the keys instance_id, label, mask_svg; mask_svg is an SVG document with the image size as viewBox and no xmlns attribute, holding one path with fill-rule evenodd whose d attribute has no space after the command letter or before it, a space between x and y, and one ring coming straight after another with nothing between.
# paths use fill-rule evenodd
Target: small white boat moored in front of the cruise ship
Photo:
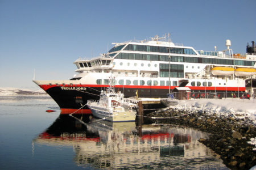
<instances>
[{"instance_id":1,"label":"small white boat moored in front of the cruise ship","mask_svg":"<svg viewBox=\"0 0 256 170\"><path fill-rule=\"evenodd\" d=\"M100 100L88 100L87 106L93 116L111 122L135 121L137 113L133 109L135 104L125 101L121 92L114 91L113 79L106 92L101 91Z\"/></svg>"}]
</instances>

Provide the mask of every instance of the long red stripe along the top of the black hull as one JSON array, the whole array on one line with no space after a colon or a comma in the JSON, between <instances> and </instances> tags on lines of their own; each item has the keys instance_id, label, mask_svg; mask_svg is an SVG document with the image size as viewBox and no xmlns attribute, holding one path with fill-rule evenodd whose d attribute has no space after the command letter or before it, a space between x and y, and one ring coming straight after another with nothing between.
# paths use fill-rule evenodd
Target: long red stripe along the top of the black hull
<instances>
[{"instance_id":1,"label":"long red stripe along the top of the black hull","mask_svg":"<svg viewBox=\"0 0 256 170\"><path fill-rule=\"evenodd\" d=\"M97 85L97 84L76 84L76 86L72 85L40 85L41 88L43 88L44 91L47 91L49 88L52 87L109 87L108 85ZM177 86L170 86L171 89L174 89ZM197 87L197 86L186 86L189 87L191 90L217 90L217 91L238 91L238 87ZM168 86L122 86L122 85L115 85L115 88L147 88L147 89L169 89ZM245 87L239 87L239 91L245 91Z\"/></svg>"}]
</instances>

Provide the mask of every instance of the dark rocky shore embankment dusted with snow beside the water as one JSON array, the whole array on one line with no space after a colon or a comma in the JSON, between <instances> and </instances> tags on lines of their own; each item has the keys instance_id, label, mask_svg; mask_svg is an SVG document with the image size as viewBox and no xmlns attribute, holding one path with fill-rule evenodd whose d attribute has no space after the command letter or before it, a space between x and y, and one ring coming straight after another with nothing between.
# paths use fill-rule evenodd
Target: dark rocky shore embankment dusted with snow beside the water
<instances>
[{"instance_id":1,"label":"dark rocky shore embankment dusted with snow beside the water","mask_svg":"<svg viewBox=\"0 0 256 170\"><path fill-rule=\"evenodd\" d=\"M208 139L200 139L211 148L230 169L250 169L256 165L256 137L253 120L246 114L232 112L214 113L209 109L168 108L146 115L152 122L175 124L197 128L209 133Z\"/></svg>"}]
</instances>

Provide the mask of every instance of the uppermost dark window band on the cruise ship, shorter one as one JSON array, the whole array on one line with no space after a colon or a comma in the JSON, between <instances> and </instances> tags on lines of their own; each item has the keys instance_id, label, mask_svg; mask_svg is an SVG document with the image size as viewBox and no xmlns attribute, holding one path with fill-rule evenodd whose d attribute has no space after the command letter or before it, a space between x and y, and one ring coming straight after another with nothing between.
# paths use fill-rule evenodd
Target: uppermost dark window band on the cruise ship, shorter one
<instances>
[{"instance_id":1,"label":"uppermost dark window band on the cruise ship, shorter one","mask_svg":"<svg viewBox=\"0 0 256 170\"><path fill-rule=\"evenodd\" d=\"M169 48L168 46L150 46L150 45L133 45L129 44L124 50L154 53L173 53L173 54L192 54L196 53L188 48Z\"/></svg>"}]
</instances>

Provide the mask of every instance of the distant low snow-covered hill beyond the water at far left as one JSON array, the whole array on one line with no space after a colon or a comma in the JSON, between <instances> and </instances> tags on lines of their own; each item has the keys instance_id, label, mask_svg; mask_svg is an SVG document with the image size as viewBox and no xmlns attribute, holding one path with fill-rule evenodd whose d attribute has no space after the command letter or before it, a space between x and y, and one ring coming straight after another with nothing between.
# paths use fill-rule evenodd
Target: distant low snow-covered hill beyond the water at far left
<instances>
[{"instance_id":1,"label":"distant low snow-covered hill beyond the water at far left","mask_svg":"<svg viewBox=\"0 0 256 170\"><path fill-rule=\"evenodd\" d=\"M20 89L13 87L0 87L0 96L12 96L12 95L47 95L45 91L36 90L32 91L29 89Z\"/></svg>"}]
</instances>

